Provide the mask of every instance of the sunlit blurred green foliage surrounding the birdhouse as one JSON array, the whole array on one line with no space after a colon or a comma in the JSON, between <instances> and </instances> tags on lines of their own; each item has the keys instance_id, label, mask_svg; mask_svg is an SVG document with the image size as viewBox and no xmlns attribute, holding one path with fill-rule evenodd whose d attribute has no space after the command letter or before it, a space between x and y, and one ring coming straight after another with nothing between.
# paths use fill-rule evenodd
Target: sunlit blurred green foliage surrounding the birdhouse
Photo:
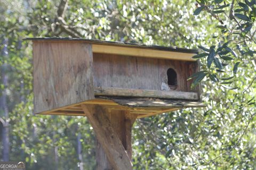
<instances>
[{"instance_id":1,"label":"sunlit blurred green foliage surrounding the birdhouse","mask_svg":"<svg viewBox=\"0 0 256 170\"><path fill-rule=\"evenodd\" d=\"M0 1L1 160L27 169L95 169L85 117L33 114L28 37L76 37L199 48L205 108L141 118L134 169L255 169L252 1Z\"/></svg>"}]
</instances>

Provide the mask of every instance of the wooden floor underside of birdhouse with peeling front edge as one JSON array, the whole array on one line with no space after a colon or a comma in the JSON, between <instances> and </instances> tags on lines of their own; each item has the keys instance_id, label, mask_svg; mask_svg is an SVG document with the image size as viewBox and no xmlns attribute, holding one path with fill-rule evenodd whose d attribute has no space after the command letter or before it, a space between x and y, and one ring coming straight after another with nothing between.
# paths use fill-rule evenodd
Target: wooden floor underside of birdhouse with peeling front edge
<instances>
[{"instance_id":1,"label":"wooden floor underside of birdhouse with peeling front edge","mask_svg":"<svg viewBox=\"0 0 256 170\"><path fill-rule=\"evenodd\" d=\"M131 114L138 114L138 118L153 116L165 112L171 112L180 108L204 107L202 103L185 100L164 100L154 98L117 98L117 97L97 97L95 99L84 101L73 106L59 108L50 112L41 114L49 115L68 115L68 116L86 116L81 104L101 105L106 111L129 111Z\"/></svg>"}]
</instances>

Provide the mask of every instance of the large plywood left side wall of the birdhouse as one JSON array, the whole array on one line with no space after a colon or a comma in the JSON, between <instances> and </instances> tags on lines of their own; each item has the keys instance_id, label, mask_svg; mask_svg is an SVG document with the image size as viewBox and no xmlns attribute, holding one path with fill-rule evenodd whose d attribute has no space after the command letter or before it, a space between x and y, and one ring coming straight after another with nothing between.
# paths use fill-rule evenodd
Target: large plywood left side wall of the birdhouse
<instances>
[{"instance_id":1,"label":"large plywood left side wall of the birdhouse","mask_svg":"<svg viewBox=\"0 0 256 170\"><path fill-rule=\"evenodd\" d=\"M93 99L90 44L34 42L34 112Z\"/></svg>"}]
</instances>

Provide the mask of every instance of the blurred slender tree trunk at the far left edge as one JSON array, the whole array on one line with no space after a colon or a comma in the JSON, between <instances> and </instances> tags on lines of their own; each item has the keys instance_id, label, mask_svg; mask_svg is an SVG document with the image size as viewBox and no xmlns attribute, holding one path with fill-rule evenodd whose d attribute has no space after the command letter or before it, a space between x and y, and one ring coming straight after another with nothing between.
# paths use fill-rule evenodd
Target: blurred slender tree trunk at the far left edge
<instances>
[{"instance_id":1,"label":"blurred slender tree trunk at the far left edge","mask_svg":"<svg viewBox=\"0 0 256 170\"><path fill-rule=\"evenodd\" d=\"M8 56L8 39L4 40L4 48L2 50L2 56L7 57ZM2 139L3 139L3 161L9 161L9 152L10 152L10 143L9 143L9 111L7 106L7 83L8 83L8 75L6 73L7 70L7 64L4 63L1 67L1 78L2 83L4 86L4 89L2 91L1 97L0 97L0 112L3 113L3 120L4 125L2 129Z\"/></svg>"}]
</instances>

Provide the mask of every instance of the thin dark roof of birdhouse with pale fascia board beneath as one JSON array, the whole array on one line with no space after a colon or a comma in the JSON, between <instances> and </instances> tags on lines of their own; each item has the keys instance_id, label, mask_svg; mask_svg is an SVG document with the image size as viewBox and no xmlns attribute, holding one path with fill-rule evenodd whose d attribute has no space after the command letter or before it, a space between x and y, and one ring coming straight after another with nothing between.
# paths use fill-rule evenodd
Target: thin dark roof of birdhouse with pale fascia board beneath
<instances>
[{"instance_id":1,"label":"thin dark roof of birdhouse with pale fascia board beneath","mask_svg":"<svg viewBox=\"0 0 256 170\"><path fill-rule=\"evenodd\" d=\"M26 40L38 41L69 41L92 44L93 53L117 54L150 58L165 58L170 60L196 61L192 58L198 53L197 49L186 49L178 47L165 47L158 45L145 45L135 43L124 43L116 41L103 41L95 39L80 38L27 38Z\"/></svg>"}]
</instances>

